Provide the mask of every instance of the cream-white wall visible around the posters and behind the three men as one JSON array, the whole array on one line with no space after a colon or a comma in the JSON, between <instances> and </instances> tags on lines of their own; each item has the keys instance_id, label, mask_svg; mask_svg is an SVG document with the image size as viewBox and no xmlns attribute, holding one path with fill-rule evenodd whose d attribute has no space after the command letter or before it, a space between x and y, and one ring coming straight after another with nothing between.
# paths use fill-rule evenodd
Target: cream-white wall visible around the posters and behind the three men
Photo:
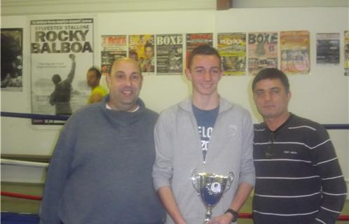
<instances>
[{"instance_id":1,"label":"cream-white wall visible around the posters and behind the three men","mask_svg":"<svg viewBox=\"0 0 349 224\"><path fill-rule=\"evenodd\" d=\"M348 27L348 7L342 8L250 8L226 11L196 10L148 13L95 14L97 36L108 34L176 34L193 32L248 32L310 31L310 75L289 76L292 101L290 111L319 123L348 124L348 83L343 76L343 49L341 64L315 64L315 35L317 32L339 32L341 47L343 31ZM26 16L3 16L1 27L24 28L23 92L1 92L1 111L30 113L29 24ZM100 38L95 45L96 64L100 64ZM219 85L223 97L242 104L252 111L254 123L261 121L252 103L250 83L252 76L224 77ZM146 76L141 97L149 108L162 111L179 102L190 93L184 76ZM1 118L1 153L50 155L59 130L38 129L30 120ZM345 178L349 176L349 131L334 130L329 134L334 141ZM2 181L21 181L25 172L36 170L1 167ZM25 181L43 181L42 174L30 175ZM4 179L6 178L6 179Z\"/></svg>"}]
</instances>

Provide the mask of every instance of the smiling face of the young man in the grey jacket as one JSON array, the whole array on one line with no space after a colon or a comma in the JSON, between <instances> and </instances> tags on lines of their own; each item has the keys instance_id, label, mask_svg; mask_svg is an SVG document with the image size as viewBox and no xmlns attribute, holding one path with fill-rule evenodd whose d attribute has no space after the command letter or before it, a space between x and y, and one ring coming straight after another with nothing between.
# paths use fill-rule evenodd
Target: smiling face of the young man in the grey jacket
<instances>
[{"instance_id":1,"label":"smiling face of the young man in the grey jacket","mask_svg":"<svg viewBox=\"0 0 349 224\"><path fill-rule=\"evenodd\" d=\"M186 69L186 78L191 80L193 95L202 97L217 94L222 74L217 55L195 55L190 68Z\"/></svg>"}]
</instances>

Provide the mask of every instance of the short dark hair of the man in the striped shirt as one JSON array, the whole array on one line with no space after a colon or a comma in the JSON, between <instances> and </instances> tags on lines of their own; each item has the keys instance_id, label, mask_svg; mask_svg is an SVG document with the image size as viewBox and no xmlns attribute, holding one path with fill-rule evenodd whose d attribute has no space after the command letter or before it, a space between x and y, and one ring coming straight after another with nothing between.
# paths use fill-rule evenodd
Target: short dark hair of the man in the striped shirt
<instances>
[{"instance_id":1,"label":"short dark hair of the man in the striped shirt","mask_svg":"<svg viewBox=\"0 0 349 224\"><path fill-rule=\"evenodd\" d=\"M252 92L254 92L254 87L256 86L256 83L258 83L260 80L264 80L267 78L280 79L282 85L285 87L286 92L289 92L289 79L287 78L285 73L276 68L266 68L259 71L252 81Z\"/></svg>"}]
</instances>

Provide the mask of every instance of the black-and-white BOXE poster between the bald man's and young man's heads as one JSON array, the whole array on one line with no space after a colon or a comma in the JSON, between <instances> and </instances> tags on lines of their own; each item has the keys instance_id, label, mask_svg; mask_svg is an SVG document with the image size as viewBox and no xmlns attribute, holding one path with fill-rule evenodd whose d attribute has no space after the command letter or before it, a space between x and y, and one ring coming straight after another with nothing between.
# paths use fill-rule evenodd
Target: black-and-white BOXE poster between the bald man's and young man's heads
<instances>
[{"instance_id":1,"label":"black-and-white BOXE poster between the bald man's and young man's heads","mask_svg":"<svg viewBox=\"0 0 349 224\"><path fill-rule=\"evenodd\" d=\"M183 35L156 35L156 74L182 75Z\"/></svg>"}]
</instances>

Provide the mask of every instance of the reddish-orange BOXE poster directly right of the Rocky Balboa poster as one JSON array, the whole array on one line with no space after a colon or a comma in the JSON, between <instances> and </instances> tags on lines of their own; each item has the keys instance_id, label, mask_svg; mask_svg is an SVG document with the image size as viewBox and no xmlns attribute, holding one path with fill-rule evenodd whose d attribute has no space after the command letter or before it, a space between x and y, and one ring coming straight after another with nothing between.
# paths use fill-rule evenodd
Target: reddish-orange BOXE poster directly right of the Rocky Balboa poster
<instances>
[{"instance_id":1,"label":"reddish-orange BOXE poster directly right of the Rocky Balboa poster","mask_svg":"<svg viewBox=\"0 0 349 224\"><path fill-rule=\"evenodd\" d=\"M127 40L126 35L108 35L101 36L101 38L101 72L102 75L107 75L114 61L121 57L126 57Z\"/></svg>"}]
</instances>

